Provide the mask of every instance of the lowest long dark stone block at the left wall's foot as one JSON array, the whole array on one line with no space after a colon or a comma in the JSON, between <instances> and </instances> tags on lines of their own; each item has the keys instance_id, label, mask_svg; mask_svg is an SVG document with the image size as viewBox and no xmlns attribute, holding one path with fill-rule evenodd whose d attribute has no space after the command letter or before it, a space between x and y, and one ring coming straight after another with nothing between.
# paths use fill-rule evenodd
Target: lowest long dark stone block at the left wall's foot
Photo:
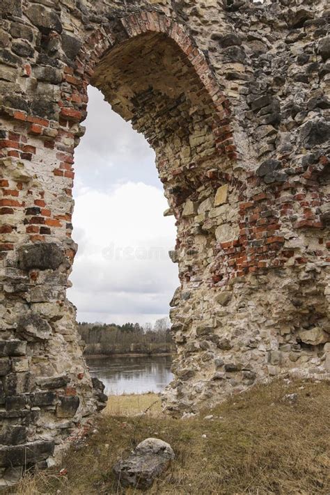
<instances>
[{"instance_id":1,"label":"lowest long dark stone block at the left wall's foot","mask_svg":"<svg viewBox=\"0 0 330 495\"><path fill-rule=\"evenodd\" d=\"M0 447L0 466L29 466L54 453L54 441L33 441L18 446Z\"/></svg>"}]
</instances>

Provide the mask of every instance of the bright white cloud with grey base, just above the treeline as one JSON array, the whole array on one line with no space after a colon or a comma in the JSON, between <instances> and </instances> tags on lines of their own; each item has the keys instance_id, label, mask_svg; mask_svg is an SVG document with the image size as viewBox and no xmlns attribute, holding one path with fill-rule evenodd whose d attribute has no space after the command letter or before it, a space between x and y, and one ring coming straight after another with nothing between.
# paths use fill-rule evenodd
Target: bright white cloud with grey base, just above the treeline
<instances>
[{"instance_id":1,"label":"bright white cloud with grey base, just above the treeline","mask_svg":"<svg viewBox=\"0 0 330 495\"><path fill-rule=\"evenodd\" d=\"M142 182L76 197L79 249L68 297L79 320L145 322L168 313L178 269L168 258L175 228L162 216L166 207L162 191Z\"/></svg>"}]
</instances>

